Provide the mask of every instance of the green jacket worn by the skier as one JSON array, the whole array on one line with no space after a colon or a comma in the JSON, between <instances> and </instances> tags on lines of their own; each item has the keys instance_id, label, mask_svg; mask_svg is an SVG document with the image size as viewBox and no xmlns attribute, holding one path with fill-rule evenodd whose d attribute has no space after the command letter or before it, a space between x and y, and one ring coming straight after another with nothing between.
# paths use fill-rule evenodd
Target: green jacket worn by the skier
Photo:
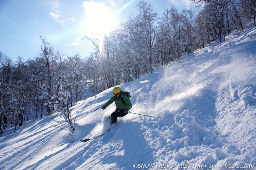
<instances>
[{"instance_id":1,"label":"green jacket worn by the skier","mask_svg":"<svg viewBox=\"0 0 256 170\"><path fill-rule=\"evenodd\" d=\"M122 97L125 104L122 102L122 99L121 99ZM119 97L112 96L104 105L107 107L113 102L115 102L116 104L116 109L120 109L120 110L127 109L129 111L133 106L129 98L123 93Z\"/></svg>"}]
</instances>

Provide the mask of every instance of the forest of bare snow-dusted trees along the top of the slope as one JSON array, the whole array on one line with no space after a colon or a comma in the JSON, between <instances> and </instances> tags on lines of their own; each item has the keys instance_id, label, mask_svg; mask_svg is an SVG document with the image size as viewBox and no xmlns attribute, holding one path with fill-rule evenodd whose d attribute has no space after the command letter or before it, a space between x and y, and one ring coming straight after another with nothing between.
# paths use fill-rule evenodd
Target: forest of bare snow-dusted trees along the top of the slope
<instances>
[{"instance_id":1,"label":"forest of bare snow-dusted trees along the top of the slope","mask_svg":"<svg viewBox=\"0 0 256 170\"><path fill-rule=\"evenodd\" d=\"M54 113L61 114L69 131L74 132L70 107L76 102L172 61L182 64L183 57L211 42L229 41L225 38L231 31L246 34L247 22L256 26L256 0L191 2L203 5L202 10L180 13L172 6L157 17L153 6L140 1L136 14L130 14L128 21L103 40L83 38L94 46L87 57L63 54L42 35L40 50L33 59L18 57L14 62L0 51L0 135L6 128L16 131L25 121ZM62 128L62 124L55 126Z\"/></svg>"}]
</instances>

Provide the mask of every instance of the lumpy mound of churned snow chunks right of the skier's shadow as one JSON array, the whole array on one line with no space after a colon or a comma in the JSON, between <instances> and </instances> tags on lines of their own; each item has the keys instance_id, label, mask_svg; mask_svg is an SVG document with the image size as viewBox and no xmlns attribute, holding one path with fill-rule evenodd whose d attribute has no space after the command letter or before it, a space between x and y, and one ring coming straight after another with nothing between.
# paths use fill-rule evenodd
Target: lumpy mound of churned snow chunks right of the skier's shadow
<instances>
[{"instance_id":1,"label":"lumpy mound of churned snow chunks right of the skier's shadow","mask_svg":"<svg viewBox=\"0 0 256 170\"><path fill-rule=\"evenodd\" d=\"M213 156L207 158L210 163L225 158L220 147L227 141L213 127L208 129L199 125L195 117L189 115L189 110L176 114L165 110L153 119L144 120L142 126L147 129L145 135L151 148L155 148L156 163L160 160L165 164L170 160L187 163L187 160L207 153Z\"/></svg>"}]
</instances>

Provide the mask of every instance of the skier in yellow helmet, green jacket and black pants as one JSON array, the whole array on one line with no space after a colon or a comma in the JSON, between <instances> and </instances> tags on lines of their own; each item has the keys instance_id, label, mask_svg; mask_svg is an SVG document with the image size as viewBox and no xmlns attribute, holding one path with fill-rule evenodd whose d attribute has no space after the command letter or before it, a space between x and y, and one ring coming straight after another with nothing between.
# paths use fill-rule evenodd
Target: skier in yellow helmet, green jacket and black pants
<instances>
[{"instance_id":1,"label":"skier in yellow helmet, green jacket and black pants","mask_svg":"<svg viewBox=\"0 0 256 170\"><path fill-rule=\"evenodd\" d=\"M113 89L113 95L107 103L105 103L101 108L104 110L111 103L115 102L116 110L111 114L111 125L115 124L117 121L117 117L125 116L128 111L132 108L132 103L129 98L122 93L122 89L120 87L115 87Z\"/></svg>"}]
</instances>

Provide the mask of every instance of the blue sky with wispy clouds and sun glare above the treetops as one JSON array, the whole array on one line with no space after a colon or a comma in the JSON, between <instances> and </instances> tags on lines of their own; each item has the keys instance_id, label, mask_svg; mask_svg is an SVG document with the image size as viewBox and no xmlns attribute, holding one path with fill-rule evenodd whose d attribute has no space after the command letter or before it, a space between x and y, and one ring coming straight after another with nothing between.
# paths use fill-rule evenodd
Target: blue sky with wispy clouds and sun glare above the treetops
<instances>
[{"instance_id":1,"label":"blue sky with wispy clouds and sun glare above the treetops","mask_svg":"<svg viewBox=\"0 0 256 170\"><path fill-rule=\"evenodd\" d=\"M104 34L136 14L140 0L0 0L0 51L13 61L34 58L44 36L62 53L89 56L92 44L84 36ZM145 0L158 16L171 5L181 12L194 8L190 0ZM198 4L197 4L198 5ZM196 9L197 11L199 9Z\"/></svg>"}]
</instances>

